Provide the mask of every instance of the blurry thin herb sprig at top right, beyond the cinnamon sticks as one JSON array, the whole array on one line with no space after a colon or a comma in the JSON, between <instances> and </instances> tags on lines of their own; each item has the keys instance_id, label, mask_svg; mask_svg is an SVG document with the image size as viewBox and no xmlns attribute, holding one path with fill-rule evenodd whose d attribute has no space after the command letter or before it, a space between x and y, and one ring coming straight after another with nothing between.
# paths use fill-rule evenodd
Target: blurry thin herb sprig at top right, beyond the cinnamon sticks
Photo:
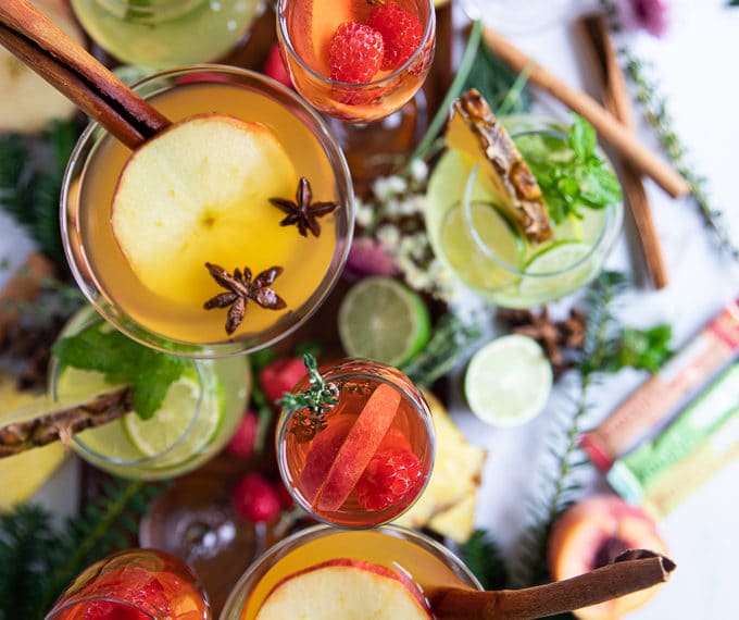
<instances>
[{"instance_id":1,"label":"blurry thin herb sprig at top right, beyond the cinnamon sticks","mask_svg":"<svg viewBox=\"0 0 739 620\"><path fill-rule=\"evenodd\" d=\"M600 0L601 8L609 18L614 33L623 32L618 21L618 10L612 0ZM699 208L705 225L713 232L718 247L731 259L739 261L739 246L729 236L724 213L712 207L709 197L707 178L697 172L696 165L689 161L689 149L682 144L673 127L673 115L667 100L660 94L660 84L654 77L651 63L637 58L631 50L622 46L616 50L624 71L636 88L637 101L642 106L647 122L654 129L667 158L675 169L685 177Z\"/></svg>"}]
</instances>

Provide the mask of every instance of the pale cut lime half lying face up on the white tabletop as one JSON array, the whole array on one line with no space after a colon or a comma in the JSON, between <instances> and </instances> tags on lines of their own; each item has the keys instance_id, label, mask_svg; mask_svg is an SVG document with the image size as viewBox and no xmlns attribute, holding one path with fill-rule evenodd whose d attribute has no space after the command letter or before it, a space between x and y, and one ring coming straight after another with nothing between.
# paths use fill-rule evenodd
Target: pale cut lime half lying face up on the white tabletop
<instances>
[{"instance_id":1,"label":"pale cut lime half lying face up on the white tabletop","mask_svg":"<svg viewBox=\"0 0 739 620\"><path fill-rule=\"evenodd\" d=\"M496 426L538 416L552 388L552 367L536 340L512 334L492 340L469 360L464 394L473 413Z\"/></svg>"}]
</instances>

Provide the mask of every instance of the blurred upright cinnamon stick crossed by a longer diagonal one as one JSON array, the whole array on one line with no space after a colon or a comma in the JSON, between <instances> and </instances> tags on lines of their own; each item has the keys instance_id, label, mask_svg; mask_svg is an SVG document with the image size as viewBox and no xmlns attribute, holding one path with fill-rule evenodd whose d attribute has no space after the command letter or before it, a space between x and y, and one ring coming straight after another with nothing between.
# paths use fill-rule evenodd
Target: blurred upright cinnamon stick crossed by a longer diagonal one
<instances>
[{"instance_id":1,"label":"blurred upright cinnamon stick crossed by a longer diagonal one","mask_svg":"<svg viewBox=\"0 0 739 620\"><path fill-rule=\"evenodd\" d=\"M599 78L605 109L630 131L634 131L626 78L618 64L605 20L600 13L594 13L580 17L577 23L587 44L589 52L587 57ZM667 268L662 256L660 237L654 226L641 174L628 158L622 158L621 163L622 186L626 196L626 203L637 226L647 272L654 288L664 288L668 282Z\"/></svg>"}]
</instances>

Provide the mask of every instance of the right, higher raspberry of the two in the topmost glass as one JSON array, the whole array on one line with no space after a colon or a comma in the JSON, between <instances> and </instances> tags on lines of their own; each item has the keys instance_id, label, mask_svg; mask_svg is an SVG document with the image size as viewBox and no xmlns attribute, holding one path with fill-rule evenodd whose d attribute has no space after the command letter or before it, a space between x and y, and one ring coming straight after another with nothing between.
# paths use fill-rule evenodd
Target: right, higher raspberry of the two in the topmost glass
<instances>
[{"instance_id":1,"label":"right, higher raspberry of the two in the topmost glass","mask_svg":"<svg viewBox=\"0 0 739 620\"><path fill-rule=\"evenodd\" d=\"M373 9L367 25L383 35L383 71L393 71L403 64L413 55L424 36L424 27L418 17L398 4L384 4Z\"/></svg>"}]
</instances>

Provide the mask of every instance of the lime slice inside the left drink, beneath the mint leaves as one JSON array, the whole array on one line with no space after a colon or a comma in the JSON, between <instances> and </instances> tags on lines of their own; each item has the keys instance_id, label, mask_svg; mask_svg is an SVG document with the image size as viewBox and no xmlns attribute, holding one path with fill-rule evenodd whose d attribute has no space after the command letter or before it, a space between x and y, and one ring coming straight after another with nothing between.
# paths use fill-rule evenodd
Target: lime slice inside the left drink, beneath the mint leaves
<instances>
[{"instance_id":1,"label":"lime slice inside the left drink, beneath the mint leaves","mask_svg":"<svg viewBox=\"0 0 739 620\"><path fill-rule=\"evenodd\" d=\"M158 461L158 466L172 466L202 451L217 434L224 416L223 385L215 381L201 389L198 376L186 373L170 386L152 418L142 420L128 413L123 425L142 455L152 457L168 450L166 459Z\"/></svg>"}]
</instances>

